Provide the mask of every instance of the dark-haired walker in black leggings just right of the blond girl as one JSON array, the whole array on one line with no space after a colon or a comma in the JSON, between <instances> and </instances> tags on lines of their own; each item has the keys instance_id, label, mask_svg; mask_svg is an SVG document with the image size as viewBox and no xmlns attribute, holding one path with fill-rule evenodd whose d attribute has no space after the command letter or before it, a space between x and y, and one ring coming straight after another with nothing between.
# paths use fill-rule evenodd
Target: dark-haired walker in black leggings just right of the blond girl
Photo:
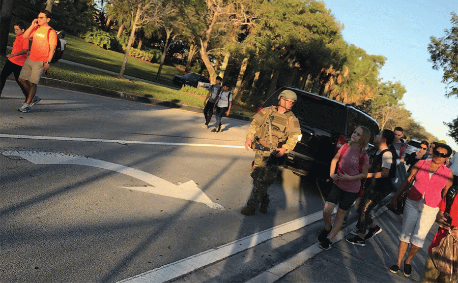
<instances>
[{"instance_id":1,"label":"dark-haired walker in black leggings just right of the blond girl","mask_svg":"<svg viewBox=\"0 0 458 283\"><path fill-rule=\"evenodd\" d=\"M358 208L358 224L351 232L355 237L347 239L351 244L365 246L366 240L382 232L382 228L373 223L370 211L382 202L386 186L395 174L393 153L388 148L393 140L394 133L390 130L381 131L374 139L374 145L378 150L374 156L371 156L370 170ZM367 226L369 229L366 235Z\"/></svg>"}]
</instances>

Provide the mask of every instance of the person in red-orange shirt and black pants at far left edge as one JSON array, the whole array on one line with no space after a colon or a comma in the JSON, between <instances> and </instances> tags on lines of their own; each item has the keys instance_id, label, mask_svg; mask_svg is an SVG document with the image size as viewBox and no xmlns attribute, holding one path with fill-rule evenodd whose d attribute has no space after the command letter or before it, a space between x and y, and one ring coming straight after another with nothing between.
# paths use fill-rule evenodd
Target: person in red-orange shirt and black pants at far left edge
<instances>
[{"instance_id":1,"label":"person in red-orange shirt and black pants at far left edge","mask_svg":"<svg viewBox=\"0 0 458 283\"><path fill-rule=\"evenodd\" d=\"M22 65L24 65L25 59L27 59L28 52L28 39L25 39L22 36L24 31L25 25L22 22L17 22L14 25L16 40L13 43L13 50L11 50L11 54L7 55L7 61L5 62L5 66L3 66L2 73L0 74L0 96L2 95L3 88L5 87L6 79L9 75L11 75L11 73L13 73L17 84L20 86L22 93L24 93L25 99L27 99L28 92L18 81Z\"/></svg>"}]
</instances>

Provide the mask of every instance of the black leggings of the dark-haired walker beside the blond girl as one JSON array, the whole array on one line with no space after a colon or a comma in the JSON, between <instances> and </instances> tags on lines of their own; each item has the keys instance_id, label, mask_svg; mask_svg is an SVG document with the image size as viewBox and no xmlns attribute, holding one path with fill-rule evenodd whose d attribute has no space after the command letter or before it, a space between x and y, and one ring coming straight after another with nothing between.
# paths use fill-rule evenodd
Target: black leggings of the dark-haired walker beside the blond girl
<instances>
[{"instance_id":1,"label":"black leggings of the dark-haired walker beside the blond girl","mask_svg":"<svg viewBox=\"0 0 458 283\"><path fill-rule=\"evenodd\" d=\"M376 205L382 203L383 195L383 190L377 191L374 190L374 188L367 188L364 191L358 208L359 220L356 227L358 228L359 233L365 234L367 226L373 223L373 220L370 217L370 211Z\"/></svg>"}]
</instances>

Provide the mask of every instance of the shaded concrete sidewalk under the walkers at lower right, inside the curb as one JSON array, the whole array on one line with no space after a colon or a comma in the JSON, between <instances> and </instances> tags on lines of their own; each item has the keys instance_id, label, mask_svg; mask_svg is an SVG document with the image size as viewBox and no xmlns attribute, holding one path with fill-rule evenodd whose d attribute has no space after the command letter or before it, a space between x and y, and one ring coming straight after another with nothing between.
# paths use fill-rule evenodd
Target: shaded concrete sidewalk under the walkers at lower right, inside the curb
<instances>
[{"instance_id":1,"label":"shaded concrete sidewalk under the walkers at lower right, inside the curb","mask_svg":"<svg viewBox=\"0 0 458 283\"><path fill-rule=\"evenodd\" d=\"M342 239L329 250L304 262L275 282L417 282L423 272L427 248L438 225L433 225L424 246L412 260L412 275L404 276L403 267L397 274L388 269L397 261L398 235L402 228L402 215L390 211L382 213L375 223L383 231L366 241L366 246L353 245ZM354 225L351 226L353 228ZM350 229L345 229L347 237ZM255 280L251 280L255 281ZM265 282L265 281L264 281Z\"/></svg>"}]
</instances>

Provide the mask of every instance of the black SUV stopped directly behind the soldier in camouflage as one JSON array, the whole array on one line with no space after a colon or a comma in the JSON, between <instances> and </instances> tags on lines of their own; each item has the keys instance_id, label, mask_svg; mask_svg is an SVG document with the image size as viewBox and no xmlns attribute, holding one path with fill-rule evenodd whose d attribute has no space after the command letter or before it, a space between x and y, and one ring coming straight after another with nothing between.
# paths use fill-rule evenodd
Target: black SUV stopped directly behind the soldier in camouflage
<instances>
[{"instance_id":1,"label":"black SUV stopped directly behind the soldier in camouflage","mask_svg":"<svg viewBox=\"0 0 458 283\"><path fill-rule=\"evenodd\" d=\"M278 89L263 107L278 106L278 95L284 89L297 95L292 111L299 119L302 136L282 166L296 174L327 178L332 158L358 125L370 130L370 146L380 132L377 121L355 107L296 88Z\"/></svg>"}]
</instances>

